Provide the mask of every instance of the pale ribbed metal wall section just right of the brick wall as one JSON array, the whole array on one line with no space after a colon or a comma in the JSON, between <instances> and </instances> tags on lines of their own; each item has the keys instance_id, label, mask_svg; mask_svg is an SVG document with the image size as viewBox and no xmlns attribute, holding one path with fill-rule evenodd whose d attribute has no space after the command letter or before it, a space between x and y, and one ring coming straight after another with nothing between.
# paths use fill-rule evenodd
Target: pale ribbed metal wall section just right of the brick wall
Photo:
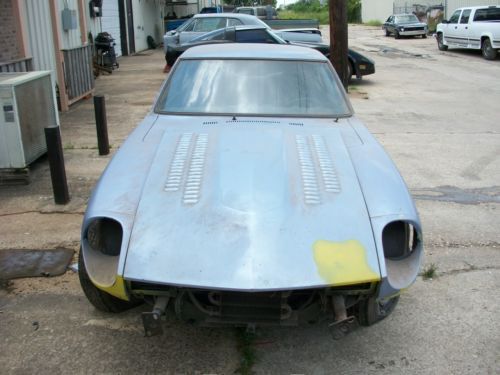
<instances>
[{"instance_id":1,"label":"pale ribbed metal wall section just right of the brick wall","mask_svg":"<svg viewBox=\"0 0 500 375\"><path fill-rule=\"evenodd\" d=\"M29 54L34 70L50 70L57 81L49 0L24 0Z\"/></svg>"}]
</instances>

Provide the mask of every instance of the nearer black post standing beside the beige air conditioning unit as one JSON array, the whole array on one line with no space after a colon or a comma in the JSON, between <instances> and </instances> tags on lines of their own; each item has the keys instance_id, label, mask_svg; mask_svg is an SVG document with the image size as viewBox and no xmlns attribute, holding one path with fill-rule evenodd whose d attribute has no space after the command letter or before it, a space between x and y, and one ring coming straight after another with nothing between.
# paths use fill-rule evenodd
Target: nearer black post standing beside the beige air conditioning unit
<instances>
[{"instance_id":1,"label":"nearer black post standing beside the beige air conditioning unit","mask_svg":"<svg viewBox=\"0 0 500 375\"><path fill-rule=\"evenodd\" d=\"M54 201L56 204L67 204L70 198L59 126L45 128L45 141L47 142L47 155L49 157Z\"/></svg>"}]
</instances>

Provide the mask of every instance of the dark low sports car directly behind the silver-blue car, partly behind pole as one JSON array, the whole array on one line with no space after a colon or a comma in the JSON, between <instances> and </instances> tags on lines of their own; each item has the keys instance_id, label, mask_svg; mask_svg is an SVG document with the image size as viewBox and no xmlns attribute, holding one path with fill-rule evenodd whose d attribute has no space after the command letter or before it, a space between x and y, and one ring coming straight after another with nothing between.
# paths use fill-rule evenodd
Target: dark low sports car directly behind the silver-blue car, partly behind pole
<instances>
[{"instance_id":1,"label":"dark low sports car directly behind the silver-blue car, partly behind pole","mask_svg":"<svg viewBox=\"0 0 500 375\"><path fill-rule=\"evenodd\" d=\"M329 57L330 46L325 43L305 43L305 42L288 42L278 35L274 34L271 30L261 26L233 26L226 27L203 34L197 38L192 39L188 43L179 44L177 46L167 46L167 53L165 59L167 64L172 66L177 58L184 53L188 48L214 43L268 43L268 44L289 44L294 46L303 46L314 48L321 52L323 55ZM349 77L356 76L360 79L362 76L375 73L375 63L349 49Z\"/></svg>"}]
</instances>

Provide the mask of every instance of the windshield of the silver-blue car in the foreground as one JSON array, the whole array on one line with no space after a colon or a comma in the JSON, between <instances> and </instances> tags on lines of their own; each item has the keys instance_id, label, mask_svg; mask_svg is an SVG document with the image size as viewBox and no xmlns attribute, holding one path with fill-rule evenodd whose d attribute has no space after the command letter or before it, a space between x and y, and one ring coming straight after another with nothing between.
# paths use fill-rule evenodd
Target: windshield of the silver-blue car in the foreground
<instances>
[{"instance_id":1,"label":"windshield of the silver-blue car in the foreground","mask_svg":"<svg viewBox=\"0 0 500 375\"><path fill-rule=\"evenodd\" d=\"M351 114L326 62L181 60L158 113L343 117Z\"/></svg>"}]
</instances>

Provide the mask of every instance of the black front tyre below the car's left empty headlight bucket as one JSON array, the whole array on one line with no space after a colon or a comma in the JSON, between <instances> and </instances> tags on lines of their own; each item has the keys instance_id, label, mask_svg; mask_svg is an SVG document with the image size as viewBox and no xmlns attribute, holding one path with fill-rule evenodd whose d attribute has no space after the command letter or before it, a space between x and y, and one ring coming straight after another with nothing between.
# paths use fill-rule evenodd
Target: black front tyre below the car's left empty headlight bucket
<instances>
[{"instance_id":1,"label":"black front tyre below the car's left empty headlight bucket","mask_svg":"<svg viewBox=\"0 0 500 375\"><path fill-rule=\"evenodd\" d=\"M119 313L129 310L141 303L141 301L138 300L121 300L97 288L92 281L90 281L81 249L80 254L78 255L78 277L80 279L80 285L82 286L83 293L85 293L87 299L97 310Z\"/></svg>"}]
</instances>

